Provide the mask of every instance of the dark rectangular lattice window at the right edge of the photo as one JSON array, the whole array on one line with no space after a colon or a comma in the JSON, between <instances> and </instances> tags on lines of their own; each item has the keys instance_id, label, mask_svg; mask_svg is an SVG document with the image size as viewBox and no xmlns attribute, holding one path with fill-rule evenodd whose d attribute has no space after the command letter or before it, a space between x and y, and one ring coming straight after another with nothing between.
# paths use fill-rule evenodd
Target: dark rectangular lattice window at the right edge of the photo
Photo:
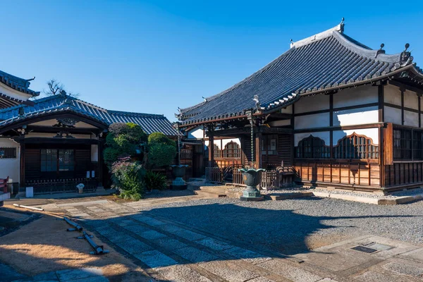
<instances>
[{"instance_id":1,"label":"dark rectangular lattice window at the right edge of the photo","mask_svg":"<svg viewBox=\"0 0 423 282\"><path fill-rule=\"evenodd\" d=\"M411 128L393 128L393 159L422 160L423 131Z\"/></svg>"}]
</instances>

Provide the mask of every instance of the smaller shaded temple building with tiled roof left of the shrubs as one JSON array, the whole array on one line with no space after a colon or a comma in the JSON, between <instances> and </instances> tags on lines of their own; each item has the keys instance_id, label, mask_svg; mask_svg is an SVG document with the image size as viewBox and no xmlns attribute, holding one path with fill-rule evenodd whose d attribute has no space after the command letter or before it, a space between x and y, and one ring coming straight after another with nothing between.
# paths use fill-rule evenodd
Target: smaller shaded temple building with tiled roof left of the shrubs
<instances>
[{"instance_id":1,"label":"smaller shaded temple building with tiled roof left of the shrubs","mask_svg":"<svg viewBox=\"0 0 423 282\"><path fill-rule=\"evenodd\" d=\"M163 115L109 111L62 92L0 109L0 178L13 193L75 191L78 183L95 190L110 179L102 152L111 123L177 137Z\"/></svg>"}]
</instances>

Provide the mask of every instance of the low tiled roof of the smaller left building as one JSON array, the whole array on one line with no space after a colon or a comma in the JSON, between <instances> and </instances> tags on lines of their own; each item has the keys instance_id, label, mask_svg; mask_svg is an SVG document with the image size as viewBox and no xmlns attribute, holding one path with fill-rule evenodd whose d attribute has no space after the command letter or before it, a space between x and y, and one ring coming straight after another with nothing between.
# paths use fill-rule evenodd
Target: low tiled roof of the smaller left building
<instances>
[{"instance_id":1,"label":"low tiled roof of the smaller left building","mask_svg":"<svg viewBox=\"0 0 423 282\"><path fill-rule=\"evenodd\" d=\"M0 128L17 121L30 120L35 116L53 112L73 111L107 125L111 123L135 123L140 125L147 134L161 132L168 136L177 135L171 122L164 115L109 111L80 99L61 94L37 99L34 102L33 106L14 106L0 110ZM25 114L23 116L19 115L20 108L24 110Z\"/></svg>"}]
</instances>

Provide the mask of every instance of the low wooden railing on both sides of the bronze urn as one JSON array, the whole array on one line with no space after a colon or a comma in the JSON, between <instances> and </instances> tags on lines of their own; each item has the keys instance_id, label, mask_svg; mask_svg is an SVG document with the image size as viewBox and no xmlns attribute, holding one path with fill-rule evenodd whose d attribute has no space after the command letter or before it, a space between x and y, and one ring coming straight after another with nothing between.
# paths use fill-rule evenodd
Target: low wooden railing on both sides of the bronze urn
<instances>
[{"instance_id":1,"label":"low wooden railing on both sides of the bronze urn","mask_svg":"<svg viewBox=\"0 0 423 282\"><path fill-rule=\"evenodd\" d=\"M292 167L271 168L262 172L261 187L264 189L280 188L292 185L295 176L295 171ZM224 168L207 167L206 180L209 182L225 182ZM238 171L238 168L233 168L231 183L236 185L244 185L243 173Z\"/></svg>"}]
</instances>

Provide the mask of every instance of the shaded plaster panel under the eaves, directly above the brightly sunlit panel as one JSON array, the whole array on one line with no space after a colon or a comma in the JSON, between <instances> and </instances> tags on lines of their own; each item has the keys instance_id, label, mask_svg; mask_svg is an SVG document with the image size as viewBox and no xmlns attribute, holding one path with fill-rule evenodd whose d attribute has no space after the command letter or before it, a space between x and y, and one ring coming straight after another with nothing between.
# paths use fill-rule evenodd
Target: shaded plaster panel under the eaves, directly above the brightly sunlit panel
<instances>
[{"instance_id":1,"label":"shaded plaster panel under the eaves, directly above the brightly sunlit panel","mask_svg":"<svg viewBox=\"0 0 423 282\"><path fill-rule=\"evenodd\" d=\"M378 102L378 90L377 87L371 85L349 88L333 94L333 108L357 106L376 102Z\"/></svg>"}]
</instances>

